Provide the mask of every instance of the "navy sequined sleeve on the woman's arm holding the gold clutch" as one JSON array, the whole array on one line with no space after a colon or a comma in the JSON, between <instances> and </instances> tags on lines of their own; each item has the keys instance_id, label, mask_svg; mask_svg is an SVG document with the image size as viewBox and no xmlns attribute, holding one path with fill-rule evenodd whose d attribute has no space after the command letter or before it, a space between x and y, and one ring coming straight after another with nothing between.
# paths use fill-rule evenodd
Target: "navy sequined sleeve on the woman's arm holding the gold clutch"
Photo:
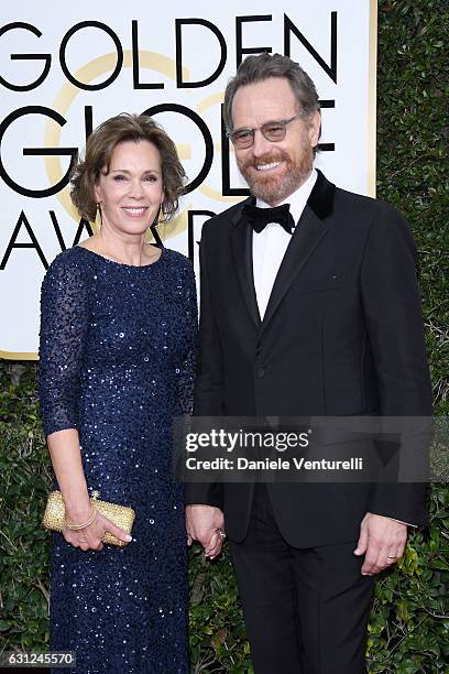
<instances>
[{"instance_id":1,"label":"navy sequined sleeve on the woman's arm holding the gold clutch","mask_svg":"<svg viewBox=\"0 0 449 674\"><path fill-rule=\"evenodd\" d=\"M41 293L40 401L45 435L78 427L88 287L70 251L51 264Z\"/></svg>"}]
</instances>

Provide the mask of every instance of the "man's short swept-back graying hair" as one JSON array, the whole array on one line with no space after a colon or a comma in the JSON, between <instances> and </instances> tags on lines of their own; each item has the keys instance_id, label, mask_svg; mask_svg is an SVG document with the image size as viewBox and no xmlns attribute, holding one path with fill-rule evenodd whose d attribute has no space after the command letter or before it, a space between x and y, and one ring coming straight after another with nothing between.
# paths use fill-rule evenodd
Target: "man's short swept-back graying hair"
<instances>
[{"instance_id":1,"label":"man's short swept-back graying hair","mask_svg":"<svg viewBox=\"0 0 449 674\"><path fill-rule=\"evenodd\" d=\"M225 91L223 118L228 133L233 131L232 101L237 89L263 81L269 77L285 77L288 80L298 106L298 112L309 117L319 110L318 94L311 78L299 64L281 54L258 54L248 56L239 66L237 74L228 81Z\"/></svg>"}]
</instances>

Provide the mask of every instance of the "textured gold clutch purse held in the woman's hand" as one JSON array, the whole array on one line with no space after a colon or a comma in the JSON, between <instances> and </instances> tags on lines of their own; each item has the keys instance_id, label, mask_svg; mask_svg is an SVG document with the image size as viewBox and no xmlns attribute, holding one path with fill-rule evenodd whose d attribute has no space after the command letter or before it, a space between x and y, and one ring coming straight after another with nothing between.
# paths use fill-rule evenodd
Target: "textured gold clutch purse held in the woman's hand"
<instances>
[{"instance_id":1,"label":"textured gold clutch purse held in the woman's hand","mask_svg":"<svg viewBox=\"0 0 449 674\"><path fill-rule=\"evenodd\" d=\"M117 503L109 503L108 501L99 501L97 499L98 496L98 491L94 491L90 498L91 504L98 512L105 515L105 518L108 518L108 520L113 522L117 526L120 526L120 529L123 529L127 533L131 533L135 519L133 509L128 506L118 506ZM61 491L52 491L48 494L42 524L45 529L50 529L51 531L63 531L65 526L65 506ZM124 545L122 541L108 531L103 536L103 543L119 545L120 547Z\"/></svg>"}]
</instances>

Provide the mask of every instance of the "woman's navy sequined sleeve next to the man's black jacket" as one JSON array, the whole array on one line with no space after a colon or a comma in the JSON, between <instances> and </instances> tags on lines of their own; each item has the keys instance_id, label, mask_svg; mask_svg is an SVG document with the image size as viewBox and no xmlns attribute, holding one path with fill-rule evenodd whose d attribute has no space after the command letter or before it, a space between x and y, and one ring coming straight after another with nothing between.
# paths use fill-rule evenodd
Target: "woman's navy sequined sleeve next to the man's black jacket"
<instances>
[{"instance_id":1,"label":"woman's navy sequined sleeve next to the man's black jacket","mask_svg":"<svg viewBox=\"0 0 449 674\"><path fill-rule=\"evenodd\" d=\"M185 311L187 315L186 352L177 368L177 396L180 414L191 414L194 407L195 367L198 338L198 309L193 267L185 273Z\"/></svg>"}]
</instances>

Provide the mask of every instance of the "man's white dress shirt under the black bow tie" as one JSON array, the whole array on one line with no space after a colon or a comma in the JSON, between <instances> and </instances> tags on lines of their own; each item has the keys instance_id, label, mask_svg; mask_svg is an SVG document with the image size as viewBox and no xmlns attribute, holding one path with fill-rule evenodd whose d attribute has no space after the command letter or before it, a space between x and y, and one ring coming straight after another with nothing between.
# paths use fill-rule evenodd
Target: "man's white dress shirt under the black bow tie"
<instances>
[{"instance_id":1,"label":"man's white dress shirt under the black bow tie","mask_svg":"<svg viewBox=\"0 0 449 674\"><path fill-rule=\"evenodd\" d=\"M313 168L306 182L282 202L282 204L291 205L291 214L295 225L297 225L303 215L303 210L314 188L317 175L317 172ZM280 206L282 204L280 204ZM256 199L255 205L259 208L271 208L271 206L262 202L262 199ZM286 232L277 222L269 222L265 229L259 233L253 231L253 275L261 319L263 319L265 315L274 280L276 279L287 246L292 241L292 236L293 235Z\"/></svg>"}]
</instances>

